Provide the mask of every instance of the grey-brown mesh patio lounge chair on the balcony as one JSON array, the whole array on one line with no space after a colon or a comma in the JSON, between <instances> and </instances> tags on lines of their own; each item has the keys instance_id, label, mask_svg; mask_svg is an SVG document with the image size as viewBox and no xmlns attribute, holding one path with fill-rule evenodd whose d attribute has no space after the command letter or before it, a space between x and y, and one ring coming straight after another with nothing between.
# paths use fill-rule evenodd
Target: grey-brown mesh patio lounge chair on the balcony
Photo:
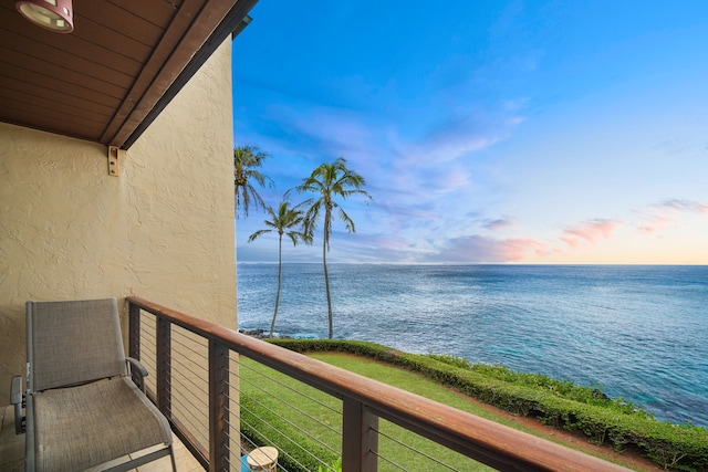
<instances>
[{"instance_id":1,"label":"grey-brown mesh patio lounge chair on the balcony","mask_svg":"<svg viewBox=\"0 0 708 472\"><path fill-rule=\"evenodd\" d=\"M115 298L28 302L27 353L27 471L122 458L106 469L118 472L165 455L177 470L167 419L131 378L147 371L125 357Z\"/></svg>"}]
</instances>

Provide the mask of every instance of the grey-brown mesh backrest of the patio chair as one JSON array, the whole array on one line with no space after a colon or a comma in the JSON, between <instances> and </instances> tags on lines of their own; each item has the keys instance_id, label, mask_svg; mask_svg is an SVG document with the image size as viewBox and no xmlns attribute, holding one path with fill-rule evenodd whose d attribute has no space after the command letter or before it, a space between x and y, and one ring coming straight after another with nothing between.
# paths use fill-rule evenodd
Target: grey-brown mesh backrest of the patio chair
<instances>
[{"instance_id":1,"label":"grey-brown mesh backrest of the patio chair","mask_svg":"<svg viewBox=\"0 0 708 472\"><path fill-rule=\"evenodd\" d=\"M126 374L115 298L27 302L28 389Z\"/></svg>"}]
</instances>

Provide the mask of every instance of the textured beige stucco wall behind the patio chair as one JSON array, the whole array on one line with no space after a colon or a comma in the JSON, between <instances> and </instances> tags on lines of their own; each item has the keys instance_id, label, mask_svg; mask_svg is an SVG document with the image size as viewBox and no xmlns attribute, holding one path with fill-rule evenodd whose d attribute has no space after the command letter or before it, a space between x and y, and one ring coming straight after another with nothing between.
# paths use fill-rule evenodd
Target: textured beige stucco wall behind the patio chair
<instances>
[{"instance_id":1,"label":"textured beige stucco wall behind the patio chair","mask_svg":"<svg viewBox=\"0 0 708 472\"><path fill-rule=\"evenodd\" d=\"M104 146L0 124L0 405L23 371L27 300L134 294L236 327L230 61L227 41L119 177Z\"/></svg>"}]
</instances>

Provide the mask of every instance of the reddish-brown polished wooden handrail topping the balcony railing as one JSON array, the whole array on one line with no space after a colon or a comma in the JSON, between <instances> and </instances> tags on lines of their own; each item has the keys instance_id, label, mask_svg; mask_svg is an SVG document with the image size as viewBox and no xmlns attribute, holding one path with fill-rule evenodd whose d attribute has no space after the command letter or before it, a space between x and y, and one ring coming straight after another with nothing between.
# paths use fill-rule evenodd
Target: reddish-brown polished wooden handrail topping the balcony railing
<instances>
[{"instance_id":1,"label":"reddish-brown polished wooden handrail topping the balcony railing","mask_svg":"<svg viewBox=\"0 0 708 472\"><path fill-rule=\"evenodd\" d=\"M254 339L146 300L127 301L266 366L503 471L627 471L620 465Z\"/></svg>"}]
</instances>

